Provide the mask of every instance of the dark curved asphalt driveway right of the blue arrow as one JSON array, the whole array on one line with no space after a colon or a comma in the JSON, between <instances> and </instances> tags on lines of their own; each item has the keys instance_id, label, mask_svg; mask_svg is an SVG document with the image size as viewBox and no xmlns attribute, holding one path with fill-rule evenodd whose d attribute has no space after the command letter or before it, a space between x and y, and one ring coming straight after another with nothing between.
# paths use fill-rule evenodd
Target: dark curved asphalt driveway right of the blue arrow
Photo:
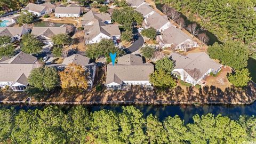
<instances>
[{"instance_id":1,"label":"dark curved asphalt driveway right of the blue arrow","mask_svg":"<svg viewBox=\"0 0 256 144\"><path fill-rule=\"evenodd\" d=\"M127 47L127 49L124 49L124 51L127 54L138 51L140 49L140 47L144 44L144 39L138 32L137 28L133 28L133 34L137 34L138 39L131 46Z\"/></svg>"}]
</instances>

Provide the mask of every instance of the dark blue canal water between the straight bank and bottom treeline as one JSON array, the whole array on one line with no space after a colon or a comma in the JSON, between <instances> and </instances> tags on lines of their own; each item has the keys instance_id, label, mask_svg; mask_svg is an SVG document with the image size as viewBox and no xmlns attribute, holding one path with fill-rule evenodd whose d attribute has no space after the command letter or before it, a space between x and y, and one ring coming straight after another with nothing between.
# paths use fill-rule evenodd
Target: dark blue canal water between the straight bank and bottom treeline
<instances>
[{"instance_id":1,"label":"dark blue canal water between the straight bank and bottom treeline","mask_svg":"<svg viewBox=\"0 0 256 144\"><path fill-rule=\"evenodd\" d=\"M47 106L28 106L28 105L0 105L0 108L10 108L14 107L17 110L24 109L44 109ZM92 106L84 106L89 111L98 111L101 109L108 110L116 110L121 112L122 106L127 105L92 105ZM214 115L221 114L223 116L228 116L231 119L238 119L240 115L256 115L256 102L252 105L237 105L237 106L228 106L228 105L202 105L202 106L194 106L194 105L133 105L138 108L143 115L146 117L149 114L153 114L159 117L162 121L167 116L175 116L179 115L182 119L185 120L185 123L193 122L193 115L203 115L207 113L212 113ZM58 106L63 111L69 111L73 106L70 105L62 105Z\"/></svg>"}]
</instances>

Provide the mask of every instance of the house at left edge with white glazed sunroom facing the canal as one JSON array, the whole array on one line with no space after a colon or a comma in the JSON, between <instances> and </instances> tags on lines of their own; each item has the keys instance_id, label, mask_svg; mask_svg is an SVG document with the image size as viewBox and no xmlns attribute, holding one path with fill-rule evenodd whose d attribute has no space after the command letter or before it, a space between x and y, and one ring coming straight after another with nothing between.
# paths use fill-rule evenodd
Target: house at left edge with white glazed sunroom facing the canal
<instances>
[{"instance_id":1,"label":"house at left edge with white glazed sunroom facing the canal","mask_svg":"<svg viewBox=\"0 0 256 144\"><path fill-rule=\"evenodd\" d=\"M0 59L0 87L10 86L13 91L24 91L30 71L37 68L37 58L20 52L13 58Z\"/></svg>"}]
</instances>

